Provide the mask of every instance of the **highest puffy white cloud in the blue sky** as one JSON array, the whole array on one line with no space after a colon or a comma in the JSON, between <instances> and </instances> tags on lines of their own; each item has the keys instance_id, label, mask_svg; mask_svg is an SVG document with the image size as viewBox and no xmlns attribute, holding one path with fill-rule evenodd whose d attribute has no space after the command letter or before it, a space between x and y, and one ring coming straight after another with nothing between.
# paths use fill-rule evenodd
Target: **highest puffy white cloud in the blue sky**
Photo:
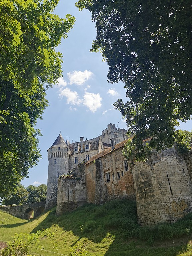
<instances>
[{"instance_id":1,"label":"highest puffy white cloud in the blue sky","mask_svg":"<svg viewBox=\"0 0 192 256\"><path fill-rule=\"evenodd\" d=\"M82 71L72 71L67 73L67 76L70 80L69 84L83 85L85 81L92 77L93 73L91 71L85 70Z\"/></svg>"}]
</instances>

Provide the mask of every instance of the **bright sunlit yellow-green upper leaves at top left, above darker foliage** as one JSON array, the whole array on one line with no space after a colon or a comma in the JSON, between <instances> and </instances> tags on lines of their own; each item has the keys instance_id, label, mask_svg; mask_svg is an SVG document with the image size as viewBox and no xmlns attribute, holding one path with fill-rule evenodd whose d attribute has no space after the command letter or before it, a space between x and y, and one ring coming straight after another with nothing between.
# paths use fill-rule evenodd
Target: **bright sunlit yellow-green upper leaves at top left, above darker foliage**
<instances>
[{"instance_id":1,"label":"bright sunlit yellow-green upper leaves at top left, above darker foliage","mask_svg":"<svg viewBox=\"0 0 192 256\"><path fill-rule=\"evenodd\" d=\"M55 51L66 38L75 18L53 14L56 1L2 0L0 3L0 77L12 81L22 95L34 93L39 80L51 85L61 76L61 53Z\"/></svg>"}]
</instances>

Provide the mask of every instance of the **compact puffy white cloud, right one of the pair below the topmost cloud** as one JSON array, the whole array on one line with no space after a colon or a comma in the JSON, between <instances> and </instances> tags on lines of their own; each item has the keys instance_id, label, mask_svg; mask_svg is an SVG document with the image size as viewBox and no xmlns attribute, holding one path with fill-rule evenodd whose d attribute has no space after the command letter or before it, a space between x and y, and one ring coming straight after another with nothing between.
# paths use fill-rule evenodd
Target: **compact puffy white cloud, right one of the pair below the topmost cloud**
<instances>
[{"instance_id":1,"label":"compact puffy white cloud, right one of the pair below the topmost cloud","mask_svg":"<svg viewBox=\"0 0 192 256\"><path fill-rule=\"evenodd\" d=\"M95 112L98 108L101 107L101 100L99 93L94 94L90 92L86 92L84 94L83 105L87 106L91 112Z\"/></svg>"}]
</instances>

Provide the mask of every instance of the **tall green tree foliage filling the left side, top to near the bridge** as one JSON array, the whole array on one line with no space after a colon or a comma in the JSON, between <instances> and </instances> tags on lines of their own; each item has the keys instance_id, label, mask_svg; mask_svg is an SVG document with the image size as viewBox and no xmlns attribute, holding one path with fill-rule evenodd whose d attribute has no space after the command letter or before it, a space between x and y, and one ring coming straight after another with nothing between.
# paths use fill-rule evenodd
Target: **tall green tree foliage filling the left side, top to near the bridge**
<instances>
[{"instance_id":1,"label":"tall green tree foliage filling the left side, top to near the bridge","mask_svg":"<svg viewBox=\"0 0 192 256\"><path fill-rule=\"evenodd\" d=\"M61 76L62 55L55 47L75 21L53 14L57 3L0 1L0 198L40 157L34 126L47 106L44 87Z\"/></svg>"}]
</instances>

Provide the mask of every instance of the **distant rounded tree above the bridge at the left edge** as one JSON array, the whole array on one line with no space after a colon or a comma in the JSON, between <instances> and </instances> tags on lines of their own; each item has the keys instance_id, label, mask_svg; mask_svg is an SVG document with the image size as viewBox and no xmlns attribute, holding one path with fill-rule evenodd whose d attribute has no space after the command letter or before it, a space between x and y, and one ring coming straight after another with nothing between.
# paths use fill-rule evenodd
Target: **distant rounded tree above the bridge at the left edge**
<instances>
[{"instance_id":1,"label":"distant rounded tree above the bridge at the left edge","mask_svg":"<svg viewBox=\"0 0 192 256\"><path fill-rule=\"evenodd\" d=\"M21 205L28 201L28 191L23 185L19 185L14 193L9 194L2 200L2 205Z\"/></svg>"}]
</instances>

